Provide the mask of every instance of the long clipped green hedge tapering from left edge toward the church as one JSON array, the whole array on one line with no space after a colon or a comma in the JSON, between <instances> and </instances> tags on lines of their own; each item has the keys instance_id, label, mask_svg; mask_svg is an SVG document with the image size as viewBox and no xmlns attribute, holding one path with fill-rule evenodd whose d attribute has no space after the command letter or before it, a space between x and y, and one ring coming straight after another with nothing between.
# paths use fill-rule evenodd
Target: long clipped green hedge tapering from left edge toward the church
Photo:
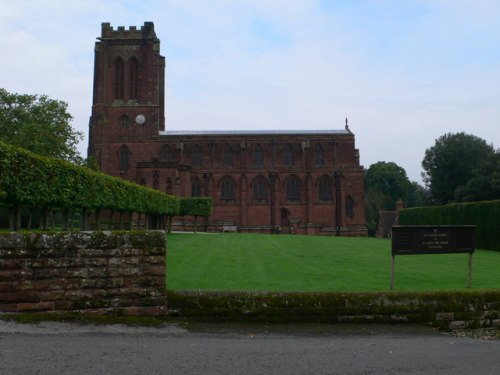
<instances>
[{"instance_id":1,"label":"long clipped green hedge tapering from left edge toward the church","mask_svg":"<svg viewBox=\"0 0 500 375\"><path fill-rule=\"evenodd\" d=\"M178 198L0 142L0 203L175 215Z\"/></svg>"}]
</instances>

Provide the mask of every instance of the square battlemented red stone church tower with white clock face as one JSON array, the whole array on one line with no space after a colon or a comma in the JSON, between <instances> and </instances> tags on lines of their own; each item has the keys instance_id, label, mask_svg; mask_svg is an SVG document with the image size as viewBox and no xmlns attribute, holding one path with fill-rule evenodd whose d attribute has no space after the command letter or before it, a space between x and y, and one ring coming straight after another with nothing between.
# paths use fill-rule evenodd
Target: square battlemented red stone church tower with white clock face
<instances>
[{"instance_id":1,"label":"square battlemented red stone church tower with white clock face","mask_svg":"<svg viewBox=\"0 0 500 375\"><path fill-rule=\"evenodd\" d=\"M152 22L140 30L103 23L97 39L88 156L133 179L131 161L150 158L140 142L165 130L165 58Z\"/></svg>"}]
</instances>

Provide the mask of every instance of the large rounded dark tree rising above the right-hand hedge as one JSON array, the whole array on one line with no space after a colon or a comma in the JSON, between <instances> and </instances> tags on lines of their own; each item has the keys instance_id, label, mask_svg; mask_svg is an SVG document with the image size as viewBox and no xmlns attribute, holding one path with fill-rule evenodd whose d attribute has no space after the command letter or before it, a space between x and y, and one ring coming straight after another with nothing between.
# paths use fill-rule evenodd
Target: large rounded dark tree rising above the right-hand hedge
<instances>
[{"instance_id":1,"label":"large rounded dark tree rising above the right-hand hedge","mask_svg":"<svg viewBox=\"0 0 500 375\"><path fill-rule=\"evenodd\" d=\"M493 146L472 134L447 133L436 139L422 161L422 177L435 203L453 202L457 188L466 185L473 171L494 153Z\"/></svg>"}]
</instances>

